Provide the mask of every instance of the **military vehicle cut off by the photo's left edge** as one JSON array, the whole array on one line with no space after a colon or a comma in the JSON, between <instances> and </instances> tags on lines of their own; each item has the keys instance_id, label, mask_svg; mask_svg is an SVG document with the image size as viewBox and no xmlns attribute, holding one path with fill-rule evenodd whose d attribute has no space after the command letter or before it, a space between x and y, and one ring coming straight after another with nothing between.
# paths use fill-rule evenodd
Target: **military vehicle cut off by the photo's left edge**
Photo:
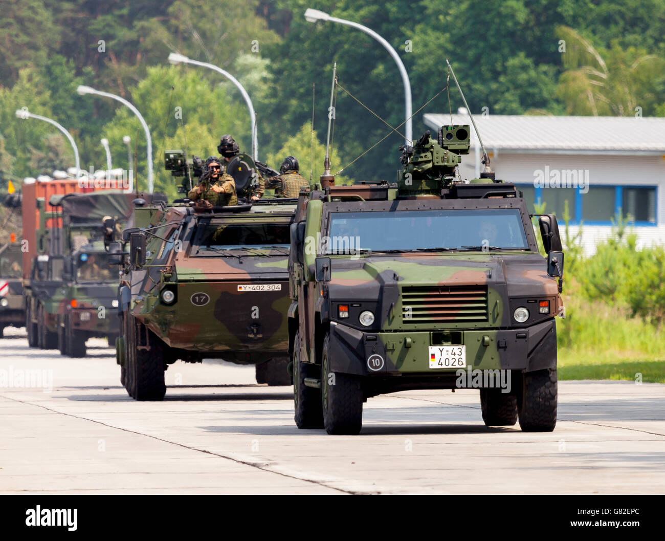
<instances>
[{"instance_id":1,"label":"military vehicle cut off by the photo's left edge","mask_svg":"<svg viewBox=\"0 0 665 541\"><path fill-rule=\"evenodd\" d=\"M21 244L0 246L0 338L5 327L25 325Z\"/></svg>"}]
</instances>

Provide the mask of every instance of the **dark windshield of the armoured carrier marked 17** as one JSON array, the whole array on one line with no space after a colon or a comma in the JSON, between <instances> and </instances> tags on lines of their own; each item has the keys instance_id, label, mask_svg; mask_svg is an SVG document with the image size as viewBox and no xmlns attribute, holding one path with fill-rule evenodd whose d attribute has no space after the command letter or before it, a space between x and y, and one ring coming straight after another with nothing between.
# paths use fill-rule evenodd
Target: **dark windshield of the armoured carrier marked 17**
<instances>
[{"instance_id":1,"label":"dark windshield of the armoured carrier marked 17","mask_svg":"<svg viewBox=\"0 0 665 541\"><path fill-rule=\"evenodd\" d=\"M201 226L199 226L201 228ZM290 245L289 223L209 223L196 235L198 252L243 250L245 248L285 248Z\"/></svg>"}]
</instances>

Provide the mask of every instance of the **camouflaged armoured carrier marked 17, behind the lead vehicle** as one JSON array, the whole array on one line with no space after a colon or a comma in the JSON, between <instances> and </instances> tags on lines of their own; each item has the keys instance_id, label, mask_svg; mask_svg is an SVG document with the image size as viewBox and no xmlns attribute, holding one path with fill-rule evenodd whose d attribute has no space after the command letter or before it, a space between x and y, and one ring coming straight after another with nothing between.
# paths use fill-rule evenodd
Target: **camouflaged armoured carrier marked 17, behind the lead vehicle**
<instances>
[{"instance_id":1,"label":"camouflaged armoured carrier marked 17, behind the lead vehicle","mask_svg":"<svg viewBox=\"0 0 665 541\"><path fill-rule=\"evenodd\" d=\"M169 154L168 168L188 174ZM242 175L239 196L253 177L245 158L234 171ZM123 233L129 257L116 345L129 395L161 400L168 365L210 357L256 365L258 383L290 385L287 259L295 200L225 207L183 200L134 212L138 227Z\"/></svg>"}]
</instances>

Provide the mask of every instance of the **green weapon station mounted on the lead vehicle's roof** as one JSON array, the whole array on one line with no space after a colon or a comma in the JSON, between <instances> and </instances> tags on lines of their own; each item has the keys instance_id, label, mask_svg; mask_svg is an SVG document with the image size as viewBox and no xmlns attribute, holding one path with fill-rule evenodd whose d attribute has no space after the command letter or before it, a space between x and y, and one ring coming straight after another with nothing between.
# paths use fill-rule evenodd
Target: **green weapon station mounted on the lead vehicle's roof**
<instances>
[{"instance_id":1,"label":"green weapon station mounted on the lead vehicle's roof","mask_svg":"<svg viewBox=\"0 0 665 541\"><path fill-rule=\"evenodd\" d=\"M460 156L469 154L469 146L467 124L442 126L436 141L427 130L414 146L400 146L400 162L404 166L398 178L400 194L440 194L452 183Z\"/></svg>"}]
</instances>

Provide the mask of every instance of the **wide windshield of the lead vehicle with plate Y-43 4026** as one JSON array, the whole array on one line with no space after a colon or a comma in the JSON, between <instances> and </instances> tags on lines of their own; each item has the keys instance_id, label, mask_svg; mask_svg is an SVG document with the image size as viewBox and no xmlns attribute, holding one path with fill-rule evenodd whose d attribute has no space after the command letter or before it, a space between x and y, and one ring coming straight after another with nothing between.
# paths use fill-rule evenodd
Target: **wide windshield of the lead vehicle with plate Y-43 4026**
<instances>
[{"instance_id":1,"label":"wide windshield of the lead vehicle with plate Y-43 4026","mask_svg":"<svg viewBox=\"0 0 665 541\"><path fill-rule=\"evenodd\" d=\"M327 253L528 250L519 209L331 212Z\"/></svg>"}]
</instances>

